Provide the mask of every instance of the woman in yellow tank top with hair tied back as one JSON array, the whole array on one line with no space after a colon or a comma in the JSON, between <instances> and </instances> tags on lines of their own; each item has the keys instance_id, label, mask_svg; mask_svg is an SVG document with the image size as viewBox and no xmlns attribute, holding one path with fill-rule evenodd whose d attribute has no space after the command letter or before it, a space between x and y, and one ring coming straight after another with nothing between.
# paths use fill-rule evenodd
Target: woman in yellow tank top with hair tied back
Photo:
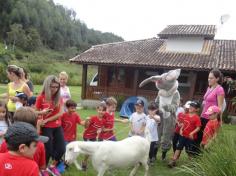
<instances>
[{"instance_id":1,"label":"woman in yellow tank top with hair tied back","mask_svg":"<svg viewBox=\"0 0 236 176\"><path fill-rule=\"evenodd\" d=\"M21 80L21 69L16 65L9 65L7 67L7 77L10 80L10 83L8 83L7 90L7 108L8 111L13 115L16 110L15 103L18 100L18 98L15 97L17 92L22 92L28 97L31 96L31 92L28 85Z\"/></svg>"}]
</instances>

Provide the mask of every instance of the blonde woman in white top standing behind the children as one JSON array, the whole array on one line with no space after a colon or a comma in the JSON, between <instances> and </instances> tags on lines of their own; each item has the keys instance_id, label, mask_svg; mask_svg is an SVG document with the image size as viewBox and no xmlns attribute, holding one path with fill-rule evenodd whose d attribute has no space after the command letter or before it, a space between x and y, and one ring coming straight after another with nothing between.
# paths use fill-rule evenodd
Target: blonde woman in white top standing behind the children
<instances>
[{"instance_id":1,"label":"blonde woman in white top standing behind the children","mask_svg":"<svg viewBox=\"0 0 236 176\"><path fill-rule=\"evenodd\" d=\"M63 104L65 105L66 101L71 99L70 89L66 85L68 81L68 74L63 71L59 74L59 81L60 81L60 92L61 92L61 98L63 100ZM66 109L66 108L64 108Z\"/></svg>"}]
</instances>

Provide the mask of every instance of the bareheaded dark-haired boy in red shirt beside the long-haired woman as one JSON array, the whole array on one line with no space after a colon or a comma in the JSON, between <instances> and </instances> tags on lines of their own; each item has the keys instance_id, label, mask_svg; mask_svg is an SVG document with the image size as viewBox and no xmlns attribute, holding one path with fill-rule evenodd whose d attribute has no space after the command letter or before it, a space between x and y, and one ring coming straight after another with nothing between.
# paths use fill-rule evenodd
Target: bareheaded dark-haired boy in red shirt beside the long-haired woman
<instances>
[{"instance_id":1,"label":"bareheaded dark-haired boy in red shirt beside the long-haired woman","mask_svg":"<svg viewBox=\"0 0 236 176\"><path fill-rule=\"evenodd\" d=\"M66 101L67 112L61 116L61 126L64 132L66 144L76 140L77 124L84 125L80 116L76 113L77 104L73 100Z\"/></svg>"}]
</instances>

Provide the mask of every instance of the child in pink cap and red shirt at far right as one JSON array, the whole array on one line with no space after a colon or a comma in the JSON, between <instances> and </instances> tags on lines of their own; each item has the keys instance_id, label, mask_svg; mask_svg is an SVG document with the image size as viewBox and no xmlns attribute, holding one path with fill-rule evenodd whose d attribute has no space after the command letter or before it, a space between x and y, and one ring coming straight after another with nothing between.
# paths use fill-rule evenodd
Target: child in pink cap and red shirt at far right
<instances>
[{"instance_id":1,"label":"child in pink cap and red shirt at far right","mask_svg":"<svg viewBox=\"0 0 236 176\"><path fill-rule=\"evenodd\" d=\"M209 116L210 120L207 122L203 132L203 138L201 142L201 146L203 148L206 148L209 145L210 141L212 141L216 137L221 124L221 111L218 106L210 106L205 114Z\"/></svg>"}]
</instances>

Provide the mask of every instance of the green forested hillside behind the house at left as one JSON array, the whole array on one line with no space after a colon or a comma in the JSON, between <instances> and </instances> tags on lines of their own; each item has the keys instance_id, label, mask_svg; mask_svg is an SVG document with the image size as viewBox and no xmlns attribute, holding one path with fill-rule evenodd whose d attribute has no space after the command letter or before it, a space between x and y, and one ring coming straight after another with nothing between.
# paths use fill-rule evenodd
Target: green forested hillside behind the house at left
<instances>
[{"instance_id":1,"label":"green forested hillside behind the house at left","mask_svg":"<svg viewBox=\"0 0 236 176\"><path fill-rule=\"evenodd\" d=\"M123 41L117 35L87 28L73 9L52 0L0 1L0 83L6 66L16 64L41 84L48 74L65 70L70 84L80 84L81 69L68 59L92 45Z\"/></svg>"}]
</instances>

